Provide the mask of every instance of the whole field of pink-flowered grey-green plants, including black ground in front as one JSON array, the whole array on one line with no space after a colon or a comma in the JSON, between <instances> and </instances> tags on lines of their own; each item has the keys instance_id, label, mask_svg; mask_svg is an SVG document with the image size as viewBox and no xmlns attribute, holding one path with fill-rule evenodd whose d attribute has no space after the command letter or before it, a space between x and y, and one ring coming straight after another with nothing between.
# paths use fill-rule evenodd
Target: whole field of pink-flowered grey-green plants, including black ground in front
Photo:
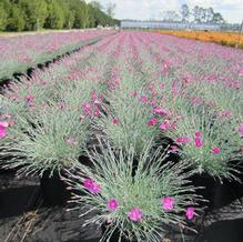
<instances>
[{"instance_id":1,"label":"whole field of pink-flowered grey-green plants, including black ground in front","mask_svg":"<svg viewBox=\"0 0 243 242\"><path fill-rule=\"evenodd\" d=\"M0 241L243 241L242 50L140 31L0 50Z\"/></svg>"}]
</instances>

